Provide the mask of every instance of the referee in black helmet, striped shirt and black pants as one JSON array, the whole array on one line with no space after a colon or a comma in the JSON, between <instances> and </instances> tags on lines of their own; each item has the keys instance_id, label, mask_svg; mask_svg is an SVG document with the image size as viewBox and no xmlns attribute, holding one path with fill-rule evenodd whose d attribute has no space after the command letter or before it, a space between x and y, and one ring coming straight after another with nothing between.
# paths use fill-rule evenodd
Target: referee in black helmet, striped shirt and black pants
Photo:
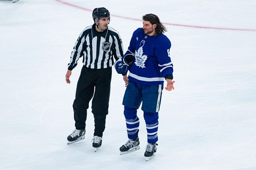
<instances>
[{"instance_id":1,"label":"referee in black helmet, striped shirt and black pants","mask_svg":"<svg viewBox=\"0 0 256 170\"><path fill-rule=\"evenodd\" d=\"M110 82L114 59L123 56L123 45L119 33L109 27L110 13L106 8L95 8L92 12L93 25L80 33L71 53L66 82L70 83L72 69L83 57L82 71L76 87L73 104L76 129L68 136L68 144L85 138L87 109L92 99L94 115L94 137L92 147L95 151L102 145L102 135L108 114ZM94 91L95 89L95 91Z\"/></svg>"}]
</instances>

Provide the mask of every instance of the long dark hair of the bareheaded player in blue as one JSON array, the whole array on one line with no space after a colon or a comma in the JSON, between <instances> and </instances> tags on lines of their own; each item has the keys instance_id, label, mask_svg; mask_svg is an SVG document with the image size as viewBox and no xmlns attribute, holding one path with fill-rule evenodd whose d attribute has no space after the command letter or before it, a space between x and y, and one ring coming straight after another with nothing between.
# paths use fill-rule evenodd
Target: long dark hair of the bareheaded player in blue
<instances>
[{"instance_id":1,"label":"long dark hair of the bareheaded player in blue","mask_svg":"<svg viewBox=\"0 0 256 170\"><path fill-rule=\"evenodd\" d=\"M146 14L142 16L142 20L150 21L151 24L156 24L156 34L164 33L167 31L167 28L160 22L158 16L155 14Z\"/></svg>"}]
</instances>

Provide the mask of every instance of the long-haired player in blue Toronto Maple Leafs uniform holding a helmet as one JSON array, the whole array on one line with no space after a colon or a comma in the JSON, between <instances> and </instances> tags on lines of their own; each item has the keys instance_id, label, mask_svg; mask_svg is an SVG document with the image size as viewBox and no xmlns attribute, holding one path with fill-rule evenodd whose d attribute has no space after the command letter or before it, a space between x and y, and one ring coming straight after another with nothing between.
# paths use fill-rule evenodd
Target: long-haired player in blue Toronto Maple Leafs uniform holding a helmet
<instances>
[{"instance_id":1,"label":"long-haired player in blue Toronto Maple Leafs uniform holding a helmet","mask_svg":"<svg viewBox=\"0 0 256 170\"><path fill-rule=\"evenodd\" d=\"M158 141L158 111L161 103L164 80L167 81L166 90L174 90L170 59L170 40L163 34L166 27L162 25L158 16L146 14L142 17L143 27L134 31L128 51L122 61L115 63L118 73L124 76L126 91L124 94L124 117L128 141L120 147L120 154L126 154L140 149L138 138L139 118L137 109L142 103L146 122L148 143L144 156L150 160L155 156Z\"/></svg>"}]
</instances>

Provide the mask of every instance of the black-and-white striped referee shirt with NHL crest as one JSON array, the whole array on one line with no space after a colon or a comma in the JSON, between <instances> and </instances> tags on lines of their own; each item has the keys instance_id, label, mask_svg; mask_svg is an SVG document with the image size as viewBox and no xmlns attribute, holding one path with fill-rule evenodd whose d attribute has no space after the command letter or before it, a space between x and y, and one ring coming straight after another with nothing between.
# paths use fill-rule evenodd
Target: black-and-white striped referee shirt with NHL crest
<instances>
[{"instance_id":1,"label":"black-and-white striped referee shirt with NHL crest","mask_svg":"<svg viewBox=\"0 0 256 170\"><path fill-rule=\"evenodd\" d=\"M80 33L68 63L68 70L77 65L83 56L84 66L88 68L108 68L114 65L114 59L121 59L124 51L119 33L108 26L103 32L96 31L95 24L86 27Z\"/></svg>"}]
</instances>

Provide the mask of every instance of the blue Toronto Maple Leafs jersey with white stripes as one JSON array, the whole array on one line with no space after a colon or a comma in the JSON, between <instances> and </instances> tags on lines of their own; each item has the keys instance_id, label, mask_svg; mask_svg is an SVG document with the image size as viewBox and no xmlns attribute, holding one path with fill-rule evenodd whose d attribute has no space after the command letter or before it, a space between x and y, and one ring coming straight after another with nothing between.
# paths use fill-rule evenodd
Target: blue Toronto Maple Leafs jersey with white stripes
<instances>
[{"instance_id":1,"label":"blue Toronto Maple Leafs jersey with white stripes","mask_svg":"<svg viewBox=\"0 0 256 170\"><path fill-rule=\"evenodd\" d=\"M165 35L148 36L142 28L136 29L124 54L135 56L128 79L146 85L164 84L165 76L173 72L170 48L171 42Z\"/></svg>"}]
</instances>

